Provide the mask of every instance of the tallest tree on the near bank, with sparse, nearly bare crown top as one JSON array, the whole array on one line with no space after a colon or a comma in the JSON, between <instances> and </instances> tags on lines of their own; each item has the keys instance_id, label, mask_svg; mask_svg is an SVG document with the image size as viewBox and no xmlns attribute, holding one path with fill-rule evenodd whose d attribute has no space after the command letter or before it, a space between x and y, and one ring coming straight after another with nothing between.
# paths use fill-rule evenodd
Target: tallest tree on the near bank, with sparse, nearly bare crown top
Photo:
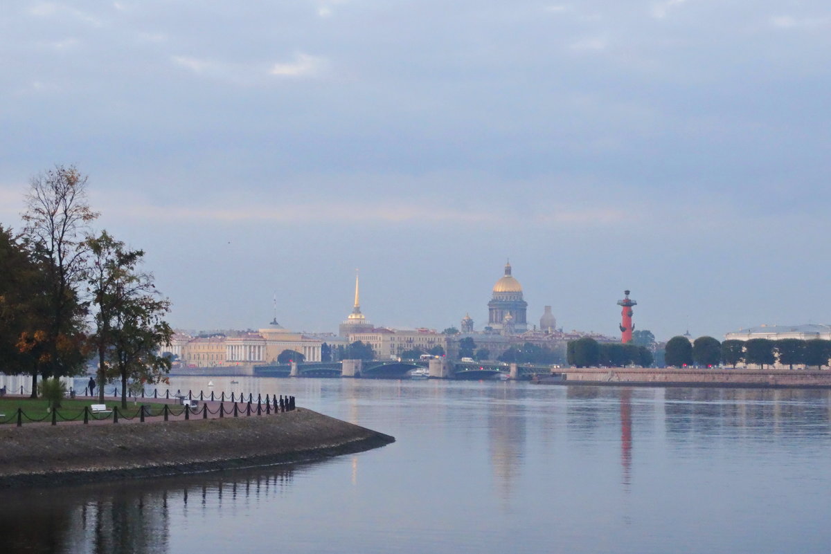
<instances>
[{"instance_id":1,"label":"tallest tree on the near bank, with sparse, nearly bare crown top","mask_svg":"<svg viewBox=\"0 0 831 554\"><path fill-rule=\"evenodd\" d=\"M58 165L33 177L25 203L23 233L42 263L45 279L48 325L38 330L44 351L40 372L43 377L71 375L85 358L85 313L78 296L86 270L82 236L98 214L86 202L86 176L73 166Z\"/></svg>"}]
</instances>

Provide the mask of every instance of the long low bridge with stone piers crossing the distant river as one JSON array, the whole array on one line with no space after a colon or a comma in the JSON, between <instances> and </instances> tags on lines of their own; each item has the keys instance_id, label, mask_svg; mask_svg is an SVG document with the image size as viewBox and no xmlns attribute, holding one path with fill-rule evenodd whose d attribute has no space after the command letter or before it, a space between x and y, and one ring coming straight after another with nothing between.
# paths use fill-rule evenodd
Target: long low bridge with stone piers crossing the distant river
<instances>
[{"instance_id":1,"label":"long low bridge with stone piers crossing the distant river","mask_svg":"<svg viewBox=\"0 0 831 554\"><path fill-rule=\"evenodd\" d=\"M435 379L531 379L548 376L551 366L504 362L460 362L434 360L343 360L342 362L292 362L254 366L261 377L361 377L405 379L412 370L427 368Z\"/></svg>"}]
</instances>

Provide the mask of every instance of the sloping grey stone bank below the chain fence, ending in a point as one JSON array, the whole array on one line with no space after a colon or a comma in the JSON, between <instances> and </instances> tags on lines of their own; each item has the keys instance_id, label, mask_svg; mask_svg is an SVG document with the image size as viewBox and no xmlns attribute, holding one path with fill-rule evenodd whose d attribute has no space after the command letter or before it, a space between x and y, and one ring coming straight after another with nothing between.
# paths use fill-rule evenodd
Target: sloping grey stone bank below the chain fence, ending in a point
<instances>
[{"instance_id":1,"label":"sloping grey stone bank below the chain fence, ending in a point","mask_svg":"<svg viewBox=\"0 0 831 554\"><path fill-rule=\"evenodd\" d=\"M0 428L0 487L188 474L322 459L395 439L298 408L263 417Z\"/></svg>"}]
</instances>

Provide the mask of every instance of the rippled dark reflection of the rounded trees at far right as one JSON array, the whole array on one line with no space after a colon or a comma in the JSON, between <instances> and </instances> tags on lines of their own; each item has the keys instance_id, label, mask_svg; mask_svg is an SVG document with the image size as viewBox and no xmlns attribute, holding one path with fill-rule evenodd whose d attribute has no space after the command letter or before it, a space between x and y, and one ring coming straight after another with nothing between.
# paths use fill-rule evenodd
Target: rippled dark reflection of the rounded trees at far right
<instances>
[{"instance_id":1,"label":"rippled dark reflection of the rounded trees at far right","mask_svg":"<svg viewBox=\"0 0 831 554\"><path fill-rule=\"evenodd\" d=\"M831 391L799 389L666 389L670 436L696 434L716 440L725 429L794 433L806 425L829 425Z\"/></svg>"}]
</instances>

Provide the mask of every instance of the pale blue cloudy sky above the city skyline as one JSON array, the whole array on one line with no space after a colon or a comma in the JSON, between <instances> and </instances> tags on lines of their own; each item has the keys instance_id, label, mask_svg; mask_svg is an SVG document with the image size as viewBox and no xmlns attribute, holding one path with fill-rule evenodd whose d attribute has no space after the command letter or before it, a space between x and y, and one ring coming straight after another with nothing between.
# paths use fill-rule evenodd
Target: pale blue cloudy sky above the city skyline
<instances>
[{"instance_id":1,"label":"pale blue cloudy sky above the city skyline","mask_svg":"<svg viewBox=\"0 0 831 554\"><path fill-rule=\"evenodd\" d=\"M831 5L23 2L0 224L56 164L189 329L831 323ZM273 299L276 297L276 303Z\"/></svg>"}]
</instances>

